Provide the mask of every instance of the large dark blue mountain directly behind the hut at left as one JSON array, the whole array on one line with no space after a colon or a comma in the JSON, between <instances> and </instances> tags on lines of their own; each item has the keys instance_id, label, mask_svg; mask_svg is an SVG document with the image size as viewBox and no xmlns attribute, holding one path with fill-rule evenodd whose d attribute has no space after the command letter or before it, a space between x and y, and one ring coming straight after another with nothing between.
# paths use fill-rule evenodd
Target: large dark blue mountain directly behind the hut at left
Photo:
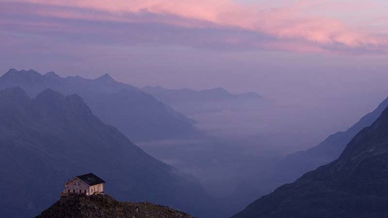
<instances>
[{"instance_id":1,"label":"large dark blue mountain directly behind the hut at left","mask_svg":"<svg viewBox=\"0 0 388 218\"><path fill-rule=\"evenodd\" d=\"M58 199L68 178L90 171L119 200L214 217L213 202L191 176L103 124L76 94L47 89L31 100L19 87L0 91L0 166L1 217L37 215Z\"/></svg>"}]
</instances>

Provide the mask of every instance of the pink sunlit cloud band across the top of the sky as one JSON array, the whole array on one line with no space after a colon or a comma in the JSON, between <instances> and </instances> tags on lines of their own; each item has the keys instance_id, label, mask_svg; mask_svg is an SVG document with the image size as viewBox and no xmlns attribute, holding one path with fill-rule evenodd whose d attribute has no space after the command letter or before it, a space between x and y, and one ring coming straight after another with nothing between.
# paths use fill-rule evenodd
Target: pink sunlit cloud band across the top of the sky
<instances>
[{"instance_id":1,"label":"pink sunlit cloud band across the top of the sky","mask_svg":"<svg viewBox=\"0 0 388 218\"><path fill-rule=\"evenodd\" d=\"M365 4L339 1L296 1L277 7L265 4L242 4L232 0L17 0L34 4L65 6L57 11L38 10L42 16L67 19L109 20L118 22L156 22L189 28L217 27L242 29L267 34L280 42L265 45L287 45L290 40L304 41L309 49L324 50L337 44L349 48L386 51L386 33L372 28L360 28L346 20L324 16L330 14L330 6L336 10L356 12ZM350 4L350 6L349 6ZM348 7L346 7L348 5ZM377 7L376 5L370 6ZM71 8L94 10L100 13L85 15ZM372 10L372 9L371 9ZM313 11L324 11L311 15ZM319 14L319 13L317 13ZM149 16L156 15L156 16ZM238 39L228 39L230 43ZM292 41L290 42L292 43ZM315 44L315 45L312 45ZM312 49L313 47L314 49ZM319 48L318 48L319 47ZM278 46L275 47L277 49Z\"/></svg>"}]
</instances>

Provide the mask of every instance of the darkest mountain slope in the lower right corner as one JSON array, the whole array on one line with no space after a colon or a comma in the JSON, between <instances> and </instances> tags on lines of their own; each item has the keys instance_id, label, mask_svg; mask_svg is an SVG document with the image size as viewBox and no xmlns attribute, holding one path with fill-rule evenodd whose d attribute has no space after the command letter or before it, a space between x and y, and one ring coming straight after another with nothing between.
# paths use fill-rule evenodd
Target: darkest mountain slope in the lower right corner
<instances>
[{"instance_id":1,"label":"darkest mountain slope in the lower right corner","mask_svg":"<svg viewBox=\"0 0 388 218\"><path fill-rule=\"evenodd\" d=\"M251 203L232 218L387 218L388 109L332 163Z\"/></svg>"}]
</instances>

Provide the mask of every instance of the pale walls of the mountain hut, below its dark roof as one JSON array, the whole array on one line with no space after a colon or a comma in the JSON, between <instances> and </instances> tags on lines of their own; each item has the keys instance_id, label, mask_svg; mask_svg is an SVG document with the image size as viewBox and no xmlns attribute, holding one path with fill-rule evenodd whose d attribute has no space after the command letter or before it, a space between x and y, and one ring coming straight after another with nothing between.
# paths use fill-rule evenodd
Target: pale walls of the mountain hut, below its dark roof
<instances>
[{"instance_id":1,"label":"pale walls of the mountain hut, below its dark roof","mask_svg":"<svg viewBox=\"0 0 388 218\"><path fill-rule=\"evenodd\" d=\"M81 191L81 192L80 192ZM86 191L86 192L85 192ZM85 194L92 195L95 192L104 192L104 184L97 184L95 186L88 186L78 178L73 178L65 184L64 193L69 194Z\"/></svg>"}]
</instances>

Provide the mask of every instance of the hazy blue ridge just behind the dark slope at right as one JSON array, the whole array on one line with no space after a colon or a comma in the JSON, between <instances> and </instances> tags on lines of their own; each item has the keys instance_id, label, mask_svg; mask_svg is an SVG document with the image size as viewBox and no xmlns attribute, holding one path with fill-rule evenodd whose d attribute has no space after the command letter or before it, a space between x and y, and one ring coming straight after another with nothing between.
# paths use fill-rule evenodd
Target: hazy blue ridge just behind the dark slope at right
<instances>
[{"instance_id":1,"label":"hazy blue ridge just behind the dark slope at right","mask_svg":"<svg viewBox=\"0 0 388 218\"><path fill-rule=\"evenodd\" d=\"M355 125L344 132L329 136L320 144L286 156L274 170L274 179L278 183L292 182L304 173L337 159L346 144L364 127L370 126L388 107L388 98L376 109L362 117Z\"/></svg>"}]
</instances>

